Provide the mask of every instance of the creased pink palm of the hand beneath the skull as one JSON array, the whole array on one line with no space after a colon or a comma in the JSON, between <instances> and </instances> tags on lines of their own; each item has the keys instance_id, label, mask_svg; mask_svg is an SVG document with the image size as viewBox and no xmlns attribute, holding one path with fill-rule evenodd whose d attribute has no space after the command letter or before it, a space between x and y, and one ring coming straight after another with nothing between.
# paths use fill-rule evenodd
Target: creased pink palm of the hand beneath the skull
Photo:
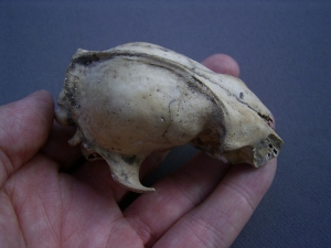
<instances>
[{"instance_id":1,"label":"creased pink palm of the hand beneath the skull","mask_svg":"<svg viewBox=\"0 0 331 248\"><path fill-rule=\"evenodd\" d=\"M4 228L23 234L12 241L29 247L142 247L114 197L58 174L56 163L42 154L13 174L4 191L11 197L7 204L14 208Z\"/></svg>"}]
</instances>

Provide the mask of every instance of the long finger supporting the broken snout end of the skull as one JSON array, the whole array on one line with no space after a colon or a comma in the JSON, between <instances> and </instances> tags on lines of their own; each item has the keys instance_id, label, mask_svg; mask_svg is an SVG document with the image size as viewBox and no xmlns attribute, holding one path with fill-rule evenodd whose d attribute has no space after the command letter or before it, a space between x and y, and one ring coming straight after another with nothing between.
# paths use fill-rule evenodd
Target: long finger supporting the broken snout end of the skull
<instances>
[{"instance_id":1,"label":"long finger supporting the broken snout end of the skull","mask_svg":"<svg viewBox=\"0 0 331 248\"><path fill-rule=\"evenodd\" d=\"M269 188L275 172L276 160L259 169L233 166L207 200L153 247L229 247Z\"/></svg>"}]
</instances>

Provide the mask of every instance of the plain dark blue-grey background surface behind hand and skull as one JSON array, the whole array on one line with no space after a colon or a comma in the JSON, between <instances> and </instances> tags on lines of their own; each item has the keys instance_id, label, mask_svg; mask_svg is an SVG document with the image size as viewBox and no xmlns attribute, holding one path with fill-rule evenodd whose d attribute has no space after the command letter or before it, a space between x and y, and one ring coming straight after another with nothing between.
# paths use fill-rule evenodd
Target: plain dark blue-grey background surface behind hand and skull
<instances>
[{"instance_id":1,"label":"plain dark blue-grey background surface behind hand and skull","mask_svg":"<svg viewBox=\"0 0 331 248\"><path fill-rule=\"evenodd\" d=\"M331 244L331 3L0 1L0 105L54 98L72 54L145 41L202 61L233 56L285 145L274 184L233 247ZM194 150L175 149L152 180Z\"/></svg>"}]
</instances>

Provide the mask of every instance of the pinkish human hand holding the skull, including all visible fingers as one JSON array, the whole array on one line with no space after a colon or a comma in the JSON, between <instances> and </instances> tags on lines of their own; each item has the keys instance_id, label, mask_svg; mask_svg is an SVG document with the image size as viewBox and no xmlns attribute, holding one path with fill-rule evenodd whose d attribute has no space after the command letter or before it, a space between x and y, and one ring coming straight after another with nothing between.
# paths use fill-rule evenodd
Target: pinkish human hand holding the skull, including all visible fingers
<instances>
[{"instance_id":1,"label":"pinkish human hand holding the skull, including all visible fingers","mask_svg":"<svg viewBox=\"0 0 331 248\"><path fill-rule=\"evenodd\" d=\"M239 74L227 55L203 64ZM276 160L233 166L200 152L121 211L128 192L105 161L76 166L79 150L67 144L74 130L53 123L53 109L44 90L0 107L2 247L228 247L274 180ZM141 177L159 162L150 155Z\"/></svg>"}]
</instances>

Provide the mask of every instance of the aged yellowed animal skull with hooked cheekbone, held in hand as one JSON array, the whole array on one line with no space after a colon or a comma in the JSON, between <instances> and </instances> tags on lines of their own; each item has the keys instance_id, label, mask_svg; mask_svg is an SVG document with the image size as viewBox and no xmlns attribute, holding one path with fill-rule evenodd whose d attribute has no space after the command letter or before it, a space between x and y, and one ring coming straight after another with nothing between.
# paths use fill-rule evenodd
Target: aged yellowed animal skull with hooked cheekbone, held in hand
<instances>
[{"instance_id":1,"label":"aged yellowed animal skull with hooked cheekbone, held in hand","mask_svg":"<svg viewBox=\"0 0 331 248\"><path fill-rule=\"evenodd\" d=\"M82 143L87 159L104 158L113 177L135 192L154 191L139 181L153 151L190 142L258 168L282 144L269 110L241 79L149 43L78 50L57 103L57 122L76 127L70 144Z\"/></svg>"}]
</instances>

